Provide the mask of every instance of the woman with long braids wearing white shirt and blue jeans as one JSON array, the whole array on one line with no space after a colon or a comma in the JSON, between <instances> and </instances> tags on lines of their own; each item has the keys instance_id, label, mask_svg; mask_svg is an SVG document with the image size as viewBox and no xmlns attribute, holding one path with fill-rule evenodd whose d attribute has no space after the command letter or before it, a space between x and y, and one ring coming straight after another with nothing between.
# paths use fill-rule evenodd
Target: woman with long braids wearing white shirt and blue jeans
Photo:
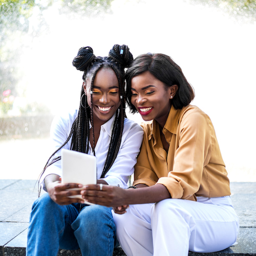
<instances>
[{"instance_id":1,"label":"woman with long braids wearing white shirt and blue jeans","mask_svg":"<svg viewBox=\"0 0 256 256\"><path fill-rule=\"evenodd\" d=\"M112 255L116 227L111 208L70 198L82 184L61 183L61 150L66 148L97 159L97 184L127 188L142 142L142 128L125 118L124 68L133 55L115 45L109 57L95 57L91 47L79 49L73 66L83 71L79 110L55 117L51 126L54 153L38 184L47 191L33 204L27 256L81 249L82 255ZM69 190L67 190L69 189Z\"/></svg>"}]
</instances>

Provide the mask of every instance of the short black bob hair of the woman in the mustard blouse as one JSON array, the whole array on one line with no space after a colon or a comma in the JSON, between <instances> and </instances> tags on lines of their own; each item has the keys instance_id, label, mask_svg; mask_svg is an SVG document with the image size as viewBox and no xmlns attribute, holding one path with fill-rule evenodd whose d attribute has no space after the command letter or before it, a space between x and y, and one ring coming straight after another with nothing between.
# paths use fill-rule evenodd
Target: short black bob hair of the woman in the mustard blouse
<instances>
[{"instance_id":1,"label":"short black bob hair of the woman in the mustard blouse","mask_svg":"<svg viewBox=\"0 0 256 256\"><path fill-rule=\"evenodd\" d=\"M177 84L178 90L172 100L175 109L182 109L183 106L188 105L194 99L193 87L188 83L181 68L169 56L161 53L142 54L133 61L125 75L127 83L126 100L132 113L136 113L137 110L131 102L131 81L133 77L146 71L149 71L167 87Z\"/></svg>"}]
</instances>

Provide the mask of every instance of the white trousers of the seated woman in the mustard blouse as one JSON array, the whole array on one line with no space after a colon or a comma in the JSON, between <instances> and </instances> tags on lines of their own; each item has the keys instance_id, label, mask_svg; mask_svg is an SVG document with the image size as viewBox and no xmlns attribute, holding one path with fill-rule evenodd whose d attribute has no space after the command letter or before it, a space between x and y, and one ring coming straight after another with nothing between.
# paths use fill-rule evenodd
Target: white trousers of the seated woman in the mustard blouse
<instances>
[{"instance_id":1,"label":"white trousers of the seated woman in the mustard blouse","mask_svg":"<svg viewBox=\"0 0 256 256\"><path fill-rule=\"evenodd\" d=\"M113 213L117 238L127 256L188 255L223 250L236 242L239 219L229 196L197 202L165 199L130 205Z\"/></svg>"}]
</instances>

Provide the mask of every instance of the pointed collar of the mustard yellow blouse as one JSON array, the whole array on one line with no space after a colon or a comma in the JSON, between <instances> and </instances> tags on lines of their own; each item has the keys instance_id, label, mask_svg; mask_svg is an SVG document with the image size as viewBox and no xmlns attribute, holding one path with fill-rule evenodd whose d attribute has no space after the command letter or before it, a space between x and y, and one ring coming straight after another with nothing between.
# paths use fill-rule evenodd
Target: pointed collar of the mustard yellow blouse
<instances>
[{"instance_id":1,"label":"pointed collar of the mustard yellow blouse","mask_svg":"<svg viewBox=\"0 0 256 256\"><path fill-rule=\"evenodd\" d=\"M174 106L170 108L169 115L165 122L164 128L170 133L177 134L177 128L179 124L181 109L176 110ZM151 133L148 135L148 140L151 140L152 136L157 139L159 133L159 125L156 120L153 120L151 126Z\"/></svg>"}]
</instances>

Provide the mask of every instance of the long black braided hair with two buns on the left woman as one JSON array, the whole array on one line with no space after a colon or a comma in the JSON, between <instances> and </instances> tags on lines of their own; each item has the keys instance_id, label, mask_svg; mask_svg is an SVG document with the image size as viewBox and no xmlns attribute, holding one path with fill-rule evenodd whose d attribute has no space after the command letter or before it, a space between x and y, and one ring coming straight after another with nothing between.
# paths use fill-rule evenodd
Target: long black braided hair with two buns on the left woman
<instances>
[{"instance_id":1,"label":"long black braided hair with two buns on the left woman","mask_svg":"<svg viewBox=\"0 0 256 256\"><path fill-rule=\"evenodd\" d=\"M86 82L88 78L92 77L90 91L93 90L94 78L97 72L102 67L110 67L115 72L118 79L121 102L118 110L116 111L115 121L114 121L112 135L111 135L111 141L109 145L109 151L106 157L101 178L105 177L105 174L109 171L109 169L113 165L117 157L117 154L119 152L121 139L122 139L124 118L126 117L125 100L124 100L125 98L124 97L124 68L128 67L132 63L132 61L133 61L133 55L130 53L129 48L125 45L122 45L122 46L114 45L109 52L109 57L95 57L95 55L93 54L93 49L91 47L82 47L79 49L77 56L73 60L73 66L76 67L77 70L84 72L82 77L84 82ZM90 94L90 97L91 97L91 102L93 102L93 95ZM88 154L89 143L90 143L90 140L89 140L90 139L90 125L89 125L90 120L92 124L92 133L93 133L92 149L95 155L93 111L92 111L92 108L90 108L88 105L87 95L84 94L83 87L81 89L80 99L81 100L80 100L78 115L75 121L73 122L68 139L48 159L44 167L44 170L42 170L41 172L40 177L44 174L48 166L50 166L51 164L61 159L60 156L53 159L52 157L55 155L56 152L58 152L63 146L65 146L68 143L71 137L72 137L71 150ZM39 181L38 181L38 196L39 194L40 194L40 191L39 191Z\"/></svg>"}]
</instances>

